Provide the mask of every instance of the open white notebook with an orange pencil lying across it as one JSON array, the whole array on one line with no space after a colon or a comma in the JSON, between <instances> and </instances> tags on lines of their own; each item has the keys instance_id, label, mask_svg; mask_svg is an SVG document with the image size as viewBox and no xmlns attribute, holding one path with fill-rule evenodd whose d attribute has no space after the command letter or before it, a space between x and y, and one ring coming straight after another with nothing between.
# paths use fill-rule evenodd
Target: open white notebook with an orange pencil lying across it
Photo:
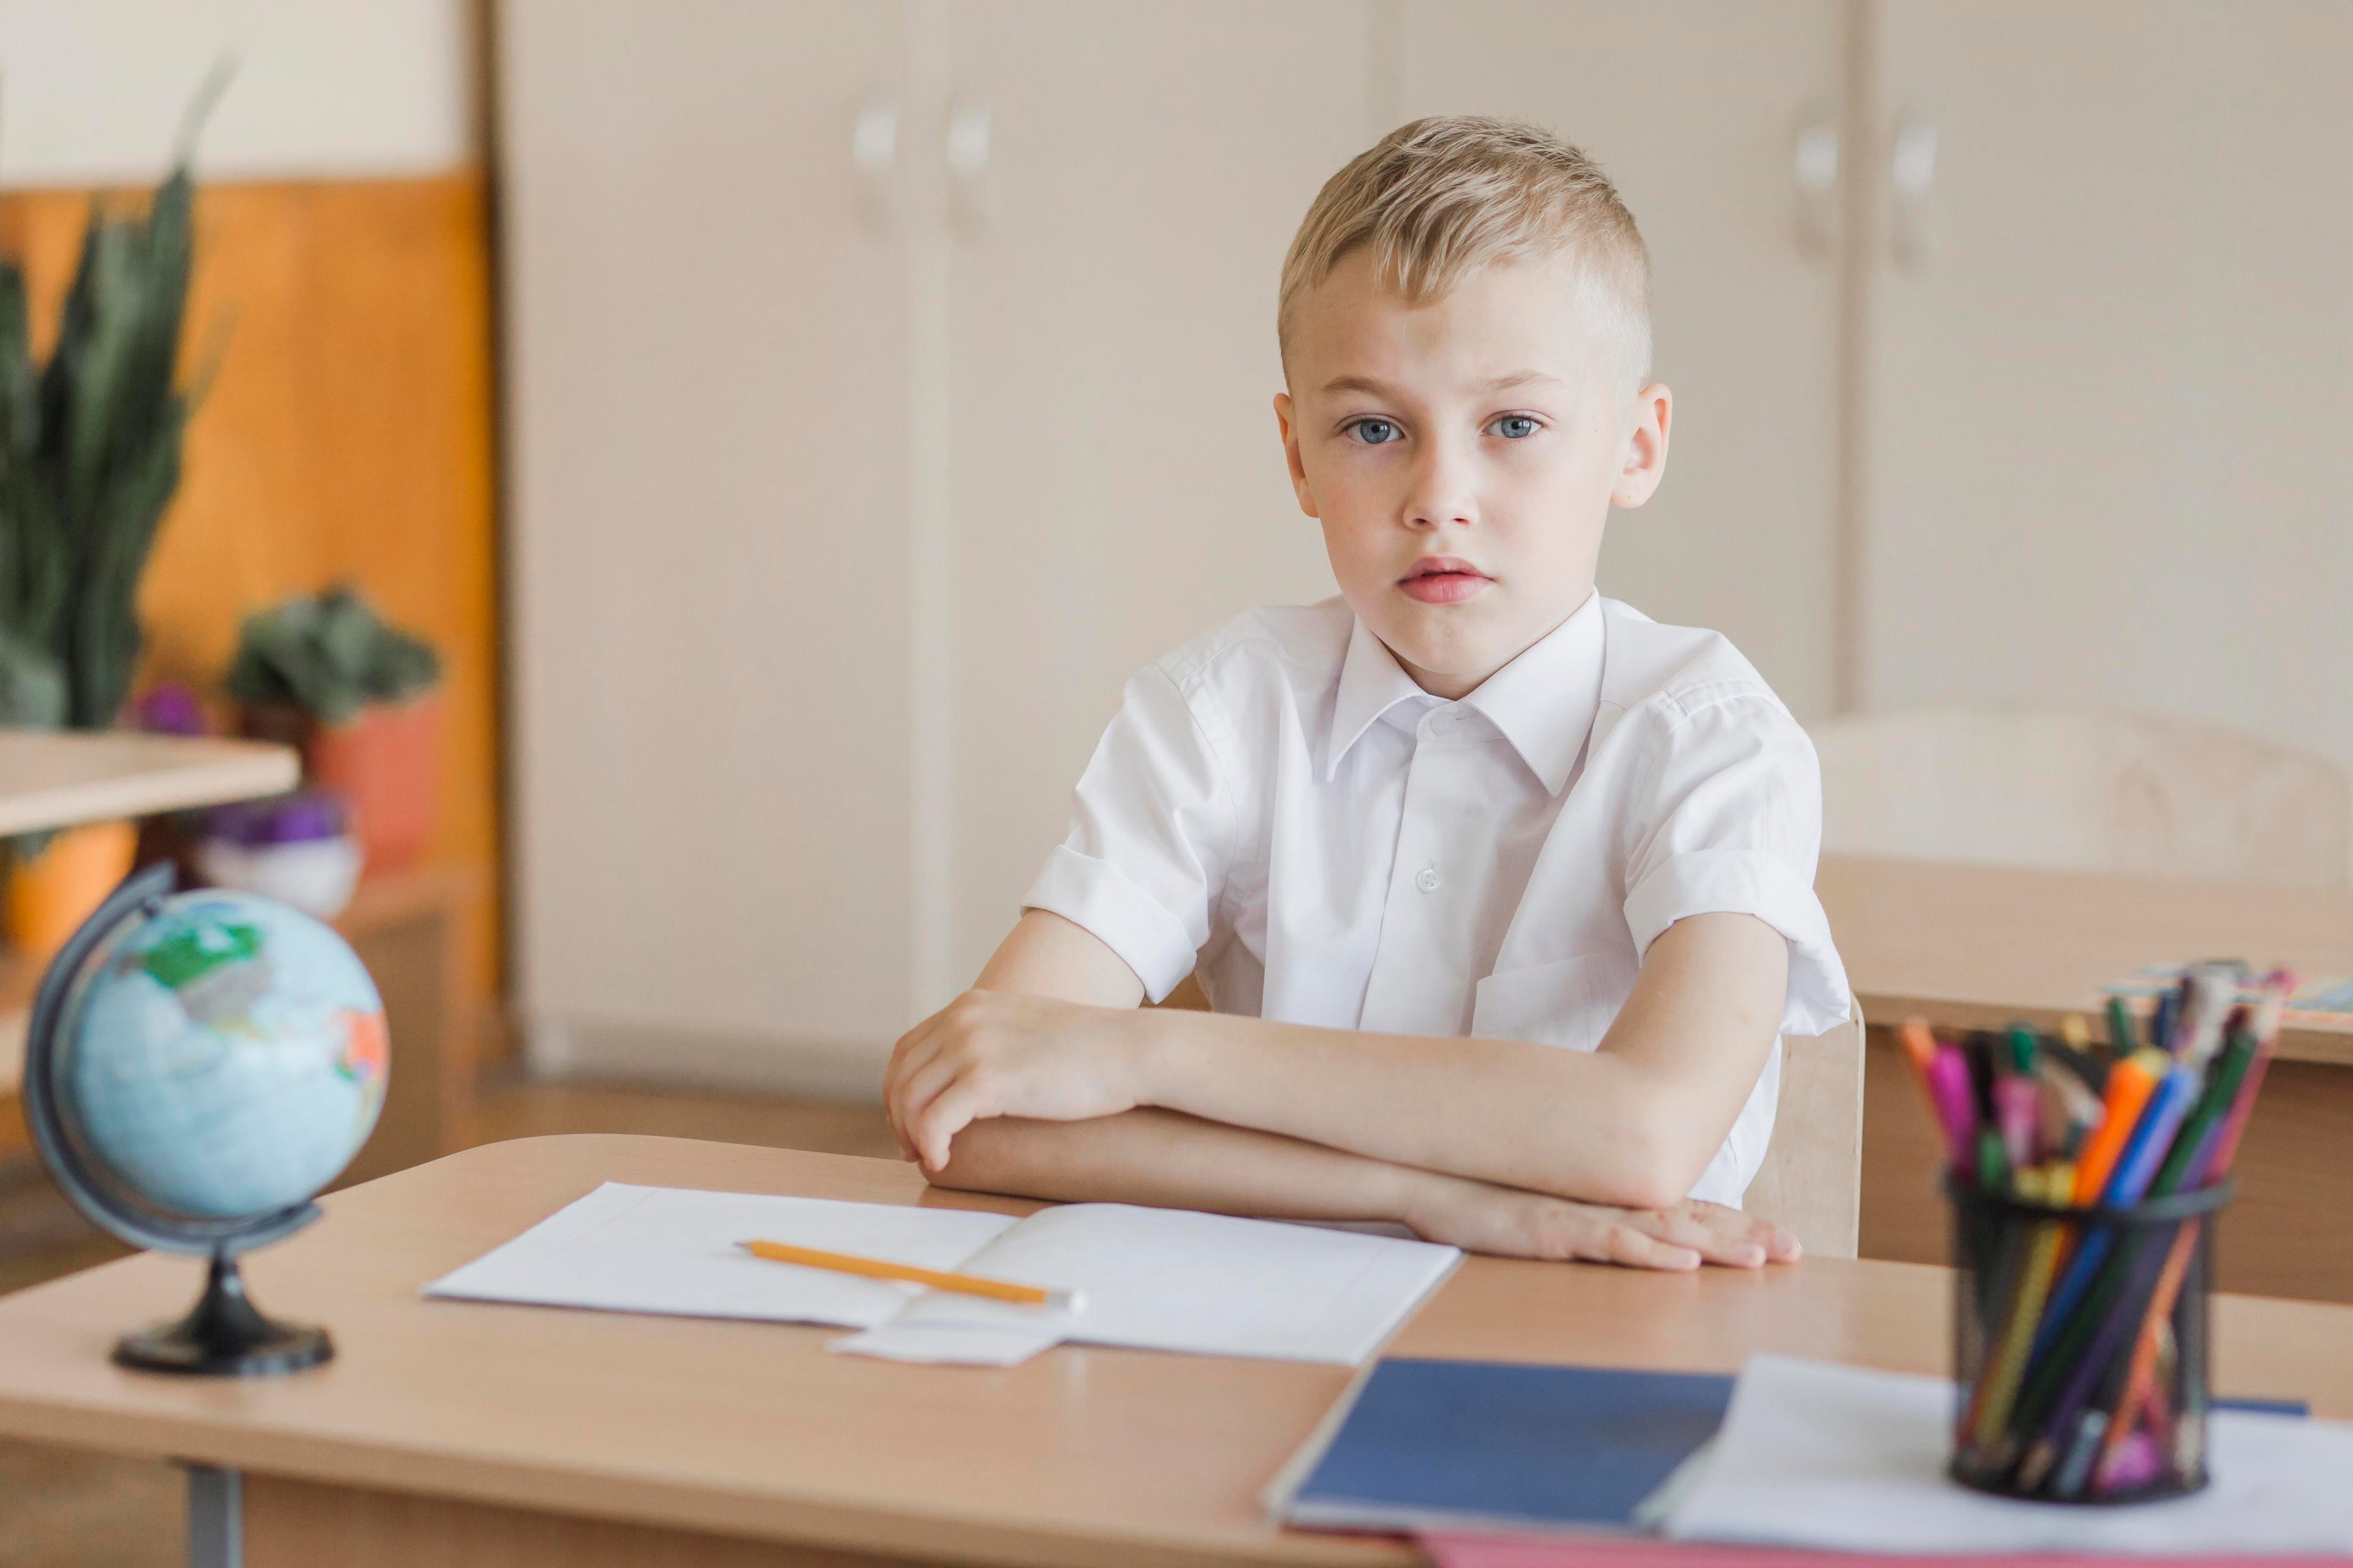
<instances>
[{"instance_id":1,"label":"open white notebook with an orange pencil lying across it","mask_svg":"<svg viewBox=\"0 0 2353 1568\"><path fill-rule=\"evenodd\" d=\"M767 1262L786 1241L1082 1291L1080 1312ZM1461 1260L1452 1246L1181 1208L1064 1204L1026 1220L605 1182L426 1295L864 1333L833 1349L1012 1366L1061 1340L1355 1366Z\"/></svg>"}]
</instances>

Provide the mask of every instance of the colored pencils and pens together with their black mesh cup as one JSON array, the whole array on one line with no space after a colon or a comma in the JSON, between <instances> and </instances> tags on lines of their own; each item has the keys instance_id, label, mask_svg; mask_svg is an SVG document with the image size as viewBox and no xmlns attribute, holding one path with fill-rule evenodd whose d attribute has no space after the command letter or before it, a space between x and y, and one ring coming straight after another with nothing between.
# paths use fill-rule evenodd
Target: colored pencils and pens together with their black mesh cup
<instances>
[{"instance_id":1,"label":"colored pencils and pens together with their black mesh cup","mask_svg":"<svg viewBox=\"0 0 2353 1568\"><path fill-rule=\"evenodd\" d=\"M1955 1467L1972 1481L2137 1495L2198 1462L2200 1349L2169 1326L2184 1293L2205 1291L2193 1281L2205 1220L2078 1211L2137 1211L2226 1178L2294 990L2273 973L2249 994L2242 978L2242 966L2186 966L2146 1030L2111 997L2106 1051L2089 1048L2080 1018L2057 1037L1899 1030L1955 1192L2007 1199L1960 1227L1974 1319Z\"/></svg>"}]
</instances>

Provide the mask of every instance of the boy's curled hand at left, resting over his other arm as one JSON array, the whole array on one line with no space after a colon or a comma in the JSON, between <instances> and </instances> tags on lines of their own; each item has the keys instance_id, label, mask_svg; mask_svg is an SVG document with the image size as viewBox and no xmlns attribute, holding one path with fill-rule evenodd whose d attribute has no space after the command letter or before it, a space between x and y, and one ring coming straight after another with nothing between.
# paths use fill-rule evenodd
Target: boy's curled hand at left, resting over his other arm
<instances>
[{"instance_id":1,"label":"boy's curled hand at left, resting over his other arm","mask_svg":"<svg viewBox=\"0 0 2353 1568\"><path fill-rule=\"evenodd\" d=\"M984 1117L1085 1121L1139 1105L1134 1009L965 992L908 1030L882 1074L899 1150L927 1171Z\"/></svg>"}]
</instances>

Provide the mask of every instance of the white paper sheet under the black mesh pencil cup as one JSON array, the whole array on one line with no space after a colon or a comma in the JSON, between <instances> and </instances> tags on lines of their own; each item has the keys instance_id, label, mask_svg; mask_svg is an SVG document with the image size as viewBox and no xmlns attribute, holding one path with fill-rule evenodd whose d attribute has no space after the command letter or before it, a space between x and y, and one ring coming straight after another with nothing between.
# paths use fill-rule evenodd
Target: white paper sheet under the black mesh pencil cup
<instances>
[{"instance_id":1,"label":"white paper sheet under the black mesh pencil cup","mask_svg":"<svg viewBox=\"0 0 2353 1568\"><path fill-rule=\"evenodd\" d=\"M2353 1554L2344 1422L2217 1410L2202 1493L2066 1507L1948 1481L1951 1420L1944 1378L1753 1356L1666 1533L1835 1552Z\"/></svg>"}]
</instances>

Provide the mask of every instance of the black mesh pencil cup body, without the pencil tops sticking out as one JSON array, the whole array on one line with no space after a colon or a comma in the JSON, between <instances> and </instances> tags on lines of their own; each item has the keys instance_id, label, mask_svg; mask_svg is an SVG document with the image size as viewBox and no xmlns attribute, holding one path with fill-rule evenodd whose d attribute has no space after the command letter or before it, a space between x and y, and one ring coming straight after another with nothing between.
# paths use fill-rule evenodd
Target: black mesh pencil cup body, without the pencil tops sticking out
<instances>
[{"instance_id":1,"label":"black mesh pencil cup body, without the pencil tops sticking out","mask_svg":"<svg viewBox=\"0 0 2353 1568\"><path fill-rule=\"evenodd\" d=\"M2045 1502L2207 1483L2207 1293L2231 1182L2129 1208L2052 1208L1948 1175L1951 1474Z\"/></svg>"}]
</instances>

